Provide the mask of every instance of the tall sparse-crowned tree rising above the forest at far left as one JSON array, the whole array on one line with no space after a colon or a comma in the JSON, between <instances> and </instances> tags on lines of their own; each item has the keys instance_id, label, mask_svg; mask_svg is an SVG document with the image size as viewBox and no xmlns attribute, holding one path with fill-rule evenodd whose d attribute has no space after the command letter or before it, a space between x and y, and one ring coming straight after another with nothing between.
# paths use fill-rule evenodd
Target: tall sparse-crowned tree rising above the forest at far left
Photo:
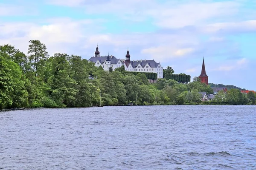
<instances>
[{"instance_id":1,"label":"tall sparse-crowned tree rising above the forest at far left","mask_svg":"<svg viewBox=\"0 0 256 170\"><path fill-rule=\"evenodd\" d=\"M40 65L40 62L43 62L44 59L47 58L48 52L46 51L47 48L46 46L41 43L39 40L30 40L30 45L29 45L29 51L28 54L30 62L33 64L33 72L35 72L35 76L37 75L38 71L38 65Z\"/></svg>"}]
</instances>

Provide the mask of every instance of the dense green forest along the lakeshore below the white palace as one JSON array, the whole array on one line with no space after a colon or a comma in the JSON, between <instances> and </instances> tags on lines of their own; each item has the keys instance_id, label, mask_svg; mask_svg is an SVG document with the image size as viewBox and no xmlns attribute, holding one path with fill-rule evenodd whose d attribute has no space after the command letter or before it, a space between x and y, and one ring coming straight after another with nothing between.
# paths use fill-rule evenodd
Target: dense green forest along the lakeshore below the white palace
<instances>
[{"instance_id":1,"label":"dense green forest along the lakeshore below the white palace","mask_svg":"<svg viewBox=\"0 0 256 170\"><path fill-rule=\"evenodd\" d=\"M165 74L173 74L171 67ZM143 73L125 71L124 67L104 71L81 56L55 53L49 56L39 40L30 40L28 51L14 45L0 45L0 109L62 108L105 105L195 105L201 103L198 92L212 94L210 85L195 77L192 82L158 79ZM172 76L169 76L172 77ZM179 76L178 76L179 77ZM189 77L190 81L190 77ZM101 91L101 96L100 96ZM206 104L254 104L255 94L238 89L219 93ZM201 103L202 104L202 103Z\"/></svg>"}]
</instances>

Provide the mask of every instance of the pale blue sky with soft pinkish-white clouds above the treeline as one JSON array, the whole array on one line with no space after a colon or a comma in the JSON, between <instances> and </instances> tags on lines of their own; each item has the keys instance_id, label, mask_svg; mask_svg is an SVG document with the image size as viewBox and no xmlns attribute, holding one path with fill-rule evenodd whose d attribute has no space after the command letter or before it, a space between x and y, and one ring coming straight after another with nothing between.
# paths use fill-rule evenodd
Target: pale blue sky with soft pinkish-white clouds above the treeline
<instances>
[{"instance_id":1,"label":"pale blue sky with soft pinkish-white clouds above the treeline","mask_svg":"<svg viewBox=\"0 0 256 170\"><path fill-rule=\"evenodd\" d=\"M256 91L256 0L0 0L0 45L154 59L175 74Z\"/></svg>"}]
</instances>

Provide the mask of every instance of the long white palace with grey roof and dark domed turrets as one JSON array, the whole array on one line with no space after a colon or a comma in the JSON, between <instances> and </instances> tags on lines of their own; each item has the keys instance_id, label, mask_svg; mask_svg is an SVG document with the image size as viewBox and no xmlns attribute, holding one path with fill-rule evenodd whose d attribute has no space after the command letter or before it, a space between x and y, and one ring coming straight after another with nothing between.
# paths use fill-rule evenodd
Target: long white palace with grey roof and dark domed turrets
<instances>
[{"instance_id":1,"label":"long white palace with grey roof and dark domed turrets","mask_svg":"<svg viewBox=\"0 0 256 170\"><path fill-rule=\"evenodd\" d=\"M136 72L147 72L147 73L157 73L157 78L163 78L163 67L160 62L155 62L153 60L130 60L129 50L125 55L125 59L116 59L114 56L99 56L99 48L97 45L95 51L95 57L89 59L90 62L94 62L97 67L102 66L105 71L108 71L110 67L115 70L116 68L125 66L126 71L136 71Z\"/></svg>"}]
</instances>

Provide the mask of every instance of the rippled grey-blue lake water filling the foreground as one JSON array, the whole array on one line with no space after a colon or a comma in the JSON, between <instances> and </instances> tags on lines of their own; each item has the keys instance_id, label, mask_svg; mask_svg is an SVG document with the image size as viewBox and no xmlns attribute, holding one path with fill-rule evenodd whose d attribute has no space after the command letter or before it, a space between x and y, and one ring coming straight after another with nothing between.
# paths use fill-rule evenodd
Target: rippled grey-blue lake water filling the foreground
<instances>
[{"instance_id":1,"label":"rippled grey-blue lake water filling the foreground","mask_svg":"<svg viewBox=\"0 0 256 170\"><path fill-rule=\"evenodd\" d=\"M256 107L1 112L0 169L253 170Z\"/></svg>"}]
</instances>

